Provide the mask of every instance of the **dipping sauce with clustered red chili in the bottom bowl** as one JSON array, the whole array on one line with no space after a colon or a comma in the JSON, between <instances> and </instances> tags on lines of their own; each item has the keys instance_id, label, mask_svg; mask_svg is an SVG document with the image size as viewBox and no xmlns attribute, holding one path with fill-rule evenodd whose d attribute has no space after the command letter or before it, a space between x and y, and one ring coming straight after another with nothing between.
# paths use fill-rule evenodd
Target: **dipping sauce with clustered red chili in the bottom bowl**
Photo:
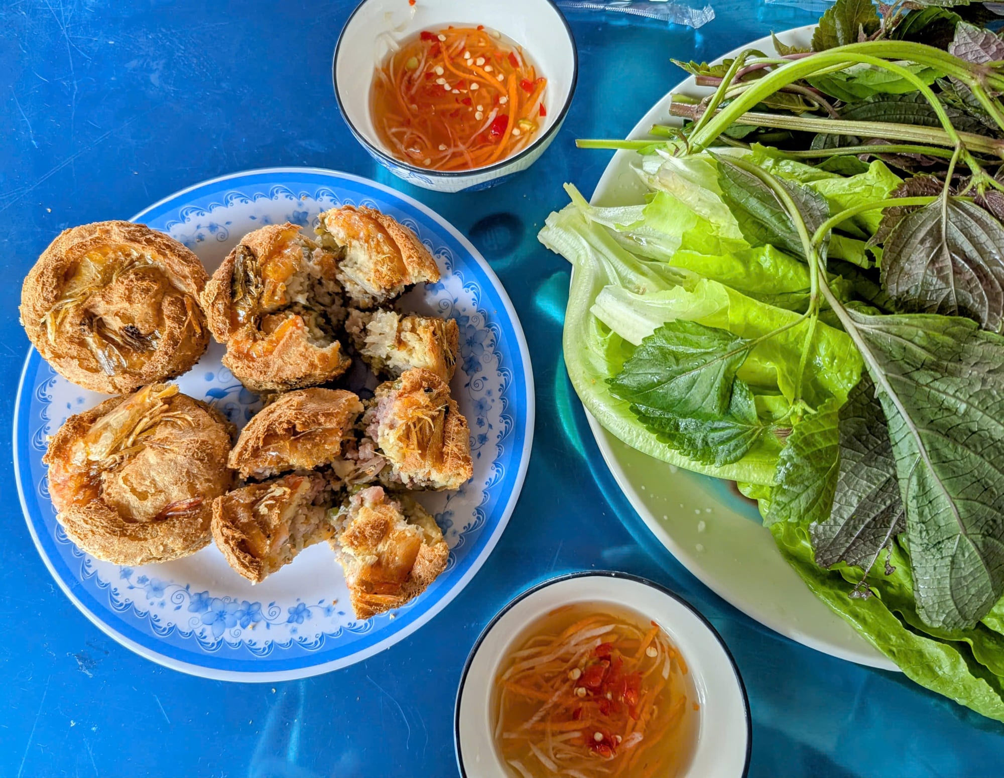
<instances>
[{"instance_id":1,"label":"dipping sauce with clustered red chili in the bottom bowl","mask_svg":"<svg viewBox=\"0 0 1004 778\"><path fill-rule=\"evenodd\" d=\"M530 626L500 666L495 744L517 778L670 778L687 768L697 695L655 621L565 606Z\"/></svg>"}]
</instances>

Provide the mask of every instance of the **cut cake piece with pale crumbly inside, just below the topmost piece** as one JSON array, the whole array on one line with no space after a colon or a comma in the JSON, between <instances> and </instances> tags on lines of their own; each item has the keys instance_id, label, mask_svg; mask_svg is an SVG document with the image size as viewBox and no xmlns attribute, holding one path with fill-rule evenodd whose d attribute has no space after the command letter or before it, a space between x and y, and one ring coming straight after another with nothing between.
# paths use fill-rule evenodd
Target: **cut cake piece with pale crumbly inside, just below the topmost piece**
<instances>
[{"instance_id":1,"label":"cut cake piece with pale crumbly inside, just below the topmost piece","mask_svg":"<svg viewBox=\"0 0 1004 778\"><path fill-rule=\"evenodd\" d=\"M345 330L362 359L398 377L412 367L425 367L449 381L457 365L460 331L453 319L401 314L393 310L352 310Z\"/></svg>"}]
</instances>

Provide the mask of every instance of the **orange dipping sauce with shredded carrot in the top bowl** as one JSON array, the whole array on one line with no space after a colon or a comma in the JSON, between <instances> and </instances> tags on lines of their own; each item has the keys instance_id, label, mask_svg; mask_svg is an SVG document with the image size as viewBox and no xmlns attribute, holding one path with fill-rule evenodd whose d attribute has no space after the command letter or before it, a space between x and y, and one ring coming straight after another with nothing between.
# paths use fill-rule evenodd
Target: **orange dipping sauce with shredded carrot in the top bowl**
<instances>
[{"instance_id":1,"label":"orange dipping sauce with shredded carrot in the top bowl","mask_svg":"<svg viewBox=\"0 0 1004 778\"><path fill-rule=\"evenodd\" d=\"M493 165L529 146L547 115L547 79L484 26L423 30L373 74L376 134L402 162L439 171Z\"/></svg>"}]
</instances>

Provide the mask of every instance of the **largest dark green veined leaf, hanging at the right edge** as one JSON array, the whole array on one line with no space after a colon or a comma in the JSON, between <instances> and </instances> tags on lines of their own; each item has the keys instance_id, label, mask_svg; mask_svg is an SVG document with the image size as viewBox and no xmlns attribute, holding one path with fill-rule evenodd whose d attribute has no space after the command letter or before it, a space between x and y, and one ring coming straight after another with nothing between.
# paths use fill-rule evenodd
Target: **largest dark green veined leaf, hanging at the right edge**
<instances>
[{"instance_id":1,"label":"largest dark green veined leaf, hanging at the right edge","mask_svg":"<svg viewBox=\"0 0 1004 778\"><path fill-rule=\"evenodd\" d=\"M1004 338L964 318L847 315L889 420L918 611L972 626L1004 592Z\"/></svg>"}]
</instances>

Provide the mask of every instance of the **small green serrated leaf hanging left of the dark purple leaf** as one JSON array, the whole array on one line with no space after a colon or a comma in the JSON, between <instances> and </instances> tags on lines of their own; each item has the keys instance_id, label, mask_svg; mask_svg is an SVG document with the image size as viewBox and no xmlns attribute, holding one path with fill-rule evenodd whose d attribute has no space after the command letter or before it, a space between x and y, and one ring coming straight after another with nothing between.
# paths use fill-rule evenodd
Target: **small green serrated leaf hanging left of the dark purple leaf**
<instances>
[{"instance_id":1,"label":"small green serrated leaf hanging left of the dark purple leaf","mask_svg":"<svg viewBox=\"0 0 1004 778\"><path fill-rule=\"evenodd\" d=\"M837 474L837 411L829 401L791 431L777 463L777 485L764 517L778 521L824 521L833 505Z\"/></svg>"}]
</instances>

